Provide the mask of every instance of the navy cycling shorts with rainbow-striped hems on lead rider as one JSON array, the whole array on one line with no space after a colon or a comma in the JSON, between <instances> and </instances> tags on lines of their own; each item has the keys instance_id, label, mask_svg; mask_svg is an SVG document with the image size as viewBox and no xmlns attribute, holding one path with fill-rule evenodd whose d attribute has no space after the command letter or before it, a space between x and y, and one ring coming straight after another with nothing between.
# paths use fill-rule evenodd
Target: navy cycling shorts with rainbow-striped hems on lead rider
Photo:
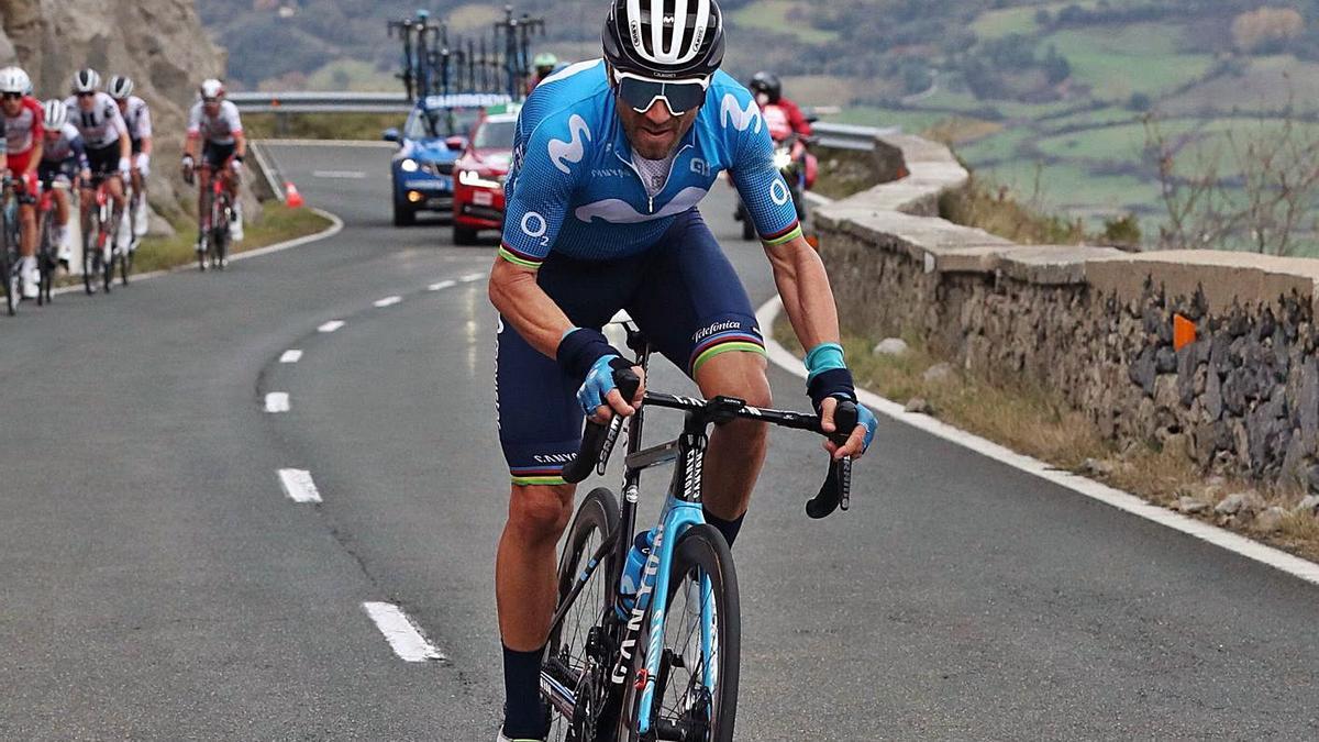
<instances>
[{"instance_id":1,"label":"navy cycling shorts with rainbow-striped hems on lead rider","mask_svg":"<svg viewBox=\"0 0 1319 742\"><path fill-rule=\"evenodd\" d=\"M695 209L632 257L586 261L551 252L537 283L578 327L599 330L625 309L689 376L721 353L765 353L747 289ZM563 465L582 441L582 379L567 378L500 318L496 382L513 483L562 485Z\"/></svg>"}]
</instances>

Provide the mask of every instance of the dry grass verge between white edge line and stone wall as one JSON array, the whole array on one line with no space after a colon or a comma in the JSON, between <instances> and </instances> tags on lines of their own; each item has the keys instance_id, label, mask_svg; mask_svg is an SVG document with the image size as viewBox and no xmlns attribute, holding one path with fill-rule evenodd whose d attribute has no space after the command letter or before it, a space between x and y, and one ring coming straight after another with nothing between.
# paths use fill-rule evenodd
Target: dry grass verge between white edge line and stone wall
<instances>
[{"instance_id":1,"label":"dry grass verge between white edge line and stone wall","mask_svg":"<svg viewBox=\"0 0 1319 742\"><path fill-rule=\"evenodd\" d=\"M774 339L801 355L802 347L785 317L774 325ZM1210 478L1167 445L1132 445L1119 452L1103 440L1089 420L1059 395L1021 382L1001 383L950 370L927 375L944 359L931 354L914 334L904 337L905 355L876 355L876 338L847 337L843 346L856 382L898 403L923 401L923 411L963 430L975 433L1018 453L1059 469L1076 471L1146 500L1175 508L1182 498L1195 498L1208 507L1202 520L1239 531L1272 545L1319 561L1319 518L1289 512L1275 529L1261 532L1250 516L1224 516L1213 506L1232 492L1256 492L1269 506L1291 511L1302 492L1286 487L1261 487L1258 482Z\"/></svg>"}]
</instances>

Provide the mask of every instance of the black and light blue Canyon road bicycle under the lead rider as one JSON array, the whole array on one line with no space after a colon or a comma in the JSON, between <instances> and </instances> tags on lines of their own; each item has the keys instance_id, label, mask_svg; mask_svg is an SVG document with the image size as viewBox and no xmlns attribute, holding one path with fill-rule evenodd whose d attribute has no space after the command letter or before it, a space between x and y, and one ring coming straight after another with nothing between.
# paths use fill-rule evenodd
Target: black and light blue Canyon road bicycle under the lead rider
<instances>
[{"instance_id":1,"label":"black and light blue Canyon road bicycle under the lead rider","mask_svg":"<svg viewBox=\"0 0 1319 742\"><path fill-rule=\"evenodd\" d=\"M637 366L646 368L650 347L624 325ZM640 379L615 372L624 399ZM642 449L646 408L685 412L682 434ZM623 504L599 487L582 500L558 565L558 607L541 669L541 696L555 742L728 742L737 712L741 617L732 553L723 535L704 522L702 465L711 425L732 419L826 434L816 415L764 409L733 397L702 400L646 392L627 419ZM835 417L839 444L856 426L856 405L843 403ZM563 478L604 474L624 428L587 422L582 449ZM842 432L847 433L842 433ZM674 462L654 541L634 597L620 595L633 549L641 473ZM847 510L851 459L830 463L819 494L807 503L811 518Z\"/></svg>"}]
</instances>

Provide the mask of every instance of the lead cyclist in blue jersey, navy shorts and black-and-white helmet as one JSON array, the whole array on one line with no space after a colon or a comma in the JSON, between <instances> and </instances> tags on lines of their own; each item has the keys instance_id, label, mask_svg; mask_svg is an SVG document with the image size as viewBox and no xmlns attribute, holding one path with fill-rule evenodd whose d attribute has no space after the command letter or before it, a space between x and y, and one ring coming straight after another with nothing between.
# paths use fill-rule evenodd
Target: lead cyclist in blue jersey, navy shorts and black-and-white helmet
<instances>
[{"instance_id":1,"label":"lead cyclist in blue jersey, navy shorts and black-and-white helmet","mask_svg":"<svg viewBox=\"0 0 1319 742\"><path fill-rule=\"evenodd\" d=\"M625 367L601 326L625 309L706 396L770 404L764 341L751 300L696 206L732 173L783 308L810 349L807 392L826 429L853 400L838 310L819 256L802 238L791 193L752 94L719 70L715 0L615 0L604 58L545 79L517 123L504 239L489 294L500 312L499 429L512 474L496 597L504 643L500 741L543 739L539 669L557 599L555 545L572 512L562 478L586 415L632 415L613 388ZM640 374L640 368L636 370ZM874 416L835 457L859 457ZM765 458L766 429L733 421L706 454L706 520L737 537Z\"/></svg>"}]
</instances>

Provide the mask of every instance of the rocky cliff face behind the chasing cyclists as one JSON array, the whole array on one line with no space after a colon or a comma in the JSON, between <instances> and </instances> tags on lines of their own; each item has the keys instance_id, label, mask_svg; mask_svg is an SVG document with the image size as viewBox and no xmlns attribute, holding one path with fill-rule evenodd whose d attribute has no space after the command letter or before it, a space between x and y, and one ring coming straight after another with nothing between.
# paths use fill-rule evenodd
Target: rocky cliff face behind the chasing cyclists
<instances>
[{"instance_id":1,"label":"rocky cliff face behind the chasing cyclists","mask_svg":"<svg viewBox=\"0 0 1319 742\"><path fill-rule=\"evenodd\" d=\"M123 74L152 107L152 203L177 209L177 166L197 83L224 70L193 0L0 0L0 65L20 65L38 98L63 98L75 70Z\"/></svg>"}]
</instances>

